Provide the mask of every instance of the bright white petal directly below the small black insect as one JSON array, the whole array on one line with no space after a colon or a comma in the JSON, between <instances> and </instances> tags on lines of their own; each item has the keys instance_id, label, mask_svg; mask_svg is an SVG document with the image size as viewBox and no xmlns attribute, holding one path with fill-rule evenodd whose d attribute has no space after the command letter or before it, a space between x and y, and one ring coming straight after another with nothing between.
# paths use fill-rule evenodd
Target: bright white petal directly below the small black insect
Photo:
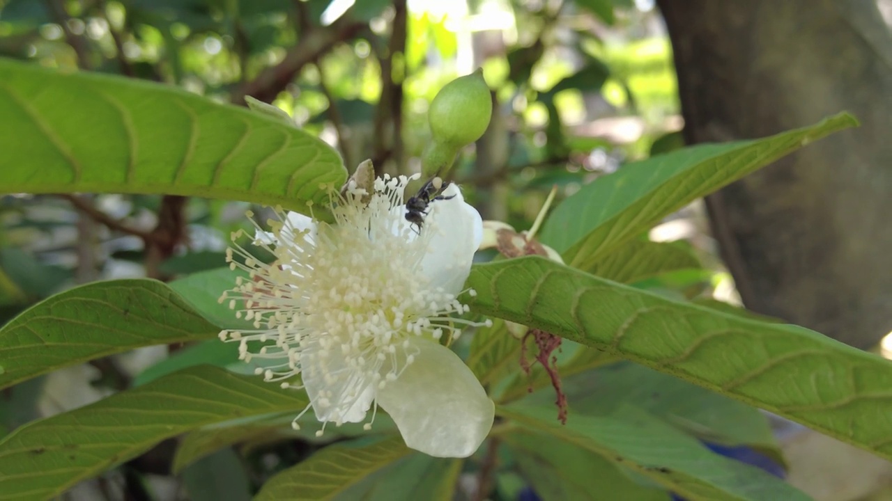
<instances>
[{"instance_id":1,"label":"bright white petal directly below the small black insect","mask_svg":"<svg viewBox=\"0 0 892 501\"><path fill-rule=\"evenodd\" d=\"M421 260L421 273L434 287L458 294L471 273L474 253L483 241L483 218L477 209L465 203L457 185L447 186L442 194L454 197L431 202L425 226L434 235Z\"/></svg>"}]
</instances>

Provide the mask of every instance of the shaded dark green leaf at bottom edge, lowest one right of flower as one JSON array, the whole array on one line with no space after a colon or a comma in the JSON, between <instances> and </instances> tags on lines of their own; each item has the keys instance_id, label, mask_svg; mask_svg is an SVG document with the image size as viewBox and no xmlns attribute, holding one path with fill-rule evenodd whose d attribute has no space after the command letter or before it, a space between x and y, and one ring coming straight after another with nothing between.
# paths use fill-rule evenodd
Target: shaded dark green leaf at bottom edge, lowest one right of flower
<instances>
[{"instance_id":1,"label":"shaded dark green leaf at bottom edge, lowest one right of flower","mask_svg":"<svg viewBox=\"0 0 892 501\"><path fill-rule=\"evenodd\" d=\"M668 501L665 489L641 485L591 450L544 433L514 431L502 437L516 452L517 465L543 501L611 499Z\"/></svg>"}]
</instances>

